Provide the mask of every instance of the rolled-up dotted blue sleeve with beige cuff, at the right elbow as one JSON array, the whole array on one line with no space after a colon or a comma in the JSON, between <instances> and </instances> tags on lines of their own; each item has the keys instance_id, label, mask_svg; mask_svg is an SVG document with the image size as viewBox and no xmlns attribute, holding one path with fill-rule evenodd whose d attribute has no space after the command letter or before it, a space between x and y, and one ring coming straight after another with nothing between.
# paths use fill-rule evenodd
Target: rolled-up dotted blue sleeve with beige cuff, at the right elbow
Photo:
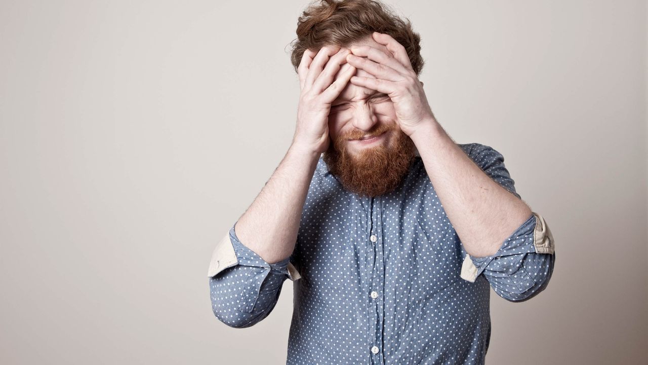
<instances>
[{"instance_id":1,"label":"rolled-up dotted blue sleeve with beige cuff, at the right elbow","mask_svg":"<svg viewBox=\"0 0 648 365\"><path fill-rule=\"evenodd\" d=\"M483 274L500 297L520 302L547 287L554 263L553 235L544 218L532 212L494 255L472 257L466 253L461 278L474 282Z\"/></svg>"}]
</instances>

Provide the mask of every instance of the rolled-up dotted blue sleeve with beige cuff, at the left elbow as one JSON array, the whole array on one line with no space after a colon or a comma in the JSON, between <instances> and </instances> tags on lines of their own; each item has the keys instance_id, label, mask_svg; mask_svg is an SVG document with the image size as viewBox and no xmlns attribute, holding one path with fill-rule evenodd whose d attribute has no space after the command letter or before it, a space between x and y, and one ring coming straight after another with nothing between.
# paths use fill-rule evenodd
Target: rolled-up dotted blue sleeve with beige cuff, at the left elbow
<instances>
[{"instance_id":1,"label":"rolled-up dotted blue sleeve with beige cuff, at the left elbow","mask_svg":"<svg viewBox=\"0 0 648 365\"><path fill-rule=\"evenodd\" d=\"M277 304L283 282L301 277L290 257L269 264L242 244L236 223L213 251L207 276L214 316L229 327L250 327Z\"/></svg>"}]
</instances>

